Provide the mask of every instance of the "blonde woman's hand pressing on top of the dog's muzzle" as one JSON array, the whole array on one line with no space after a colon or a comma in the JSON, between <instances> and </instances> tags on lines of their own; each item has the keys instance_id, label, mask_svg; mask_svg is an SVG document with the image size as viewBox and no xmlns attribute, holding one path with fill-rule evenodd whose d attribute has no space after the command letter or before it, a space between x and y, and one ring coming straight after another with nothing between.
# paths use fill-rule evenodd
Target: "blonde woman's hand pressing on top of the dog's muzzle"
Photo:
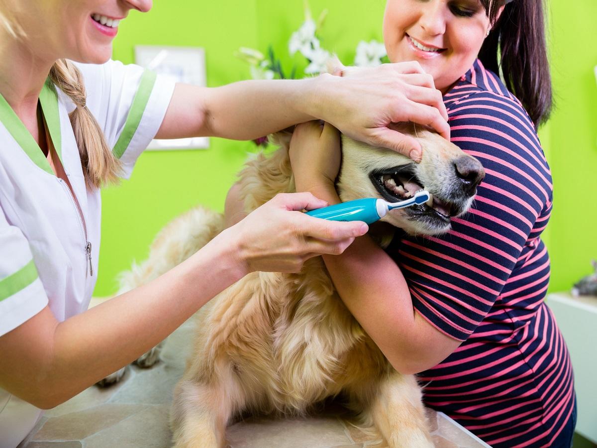
<instances>
[{"instance_id":1,"label":"blonde woman's hand pressing on top of the dog's muzzle","mask_svg":"<svg viewBox=\"0 0 597 448\"><path fill-rule=\"evenodd\" d=\"M450 125L442 93L418 62L378 67L339 67L321 75L313 115L330 122L343 134L383 146L414 160L421 157L416 139L391 130L391 123L413 121L450 139Z\"/></svg>"}]
</instances>

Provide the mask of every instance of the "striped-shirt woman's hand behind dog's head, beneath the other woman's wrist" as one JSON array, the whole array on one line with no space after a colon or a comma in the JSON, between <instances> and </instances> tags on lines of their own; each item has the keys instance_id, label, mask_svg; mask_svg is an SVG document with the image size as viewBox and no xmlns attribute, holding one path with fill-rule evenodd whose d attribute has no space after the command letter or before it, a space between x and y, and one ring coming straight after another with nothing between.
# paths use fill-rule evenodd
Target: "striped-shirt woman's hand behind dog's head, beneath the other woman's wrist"
<instances>
[{"instance_id":1,"label":"striped-shirt woman's hand behind dog's head, beneath the other woman's wrist","mask_svg":"<svg viewBox=\"0 0 597 448\"><path fill-rule=\"evenodd\" d=\"M298 124L288 153L297 191L316 195L322 189L335 191L341 161L340 134L336 128L321 121Z\"/></svg>"}]
</instances>

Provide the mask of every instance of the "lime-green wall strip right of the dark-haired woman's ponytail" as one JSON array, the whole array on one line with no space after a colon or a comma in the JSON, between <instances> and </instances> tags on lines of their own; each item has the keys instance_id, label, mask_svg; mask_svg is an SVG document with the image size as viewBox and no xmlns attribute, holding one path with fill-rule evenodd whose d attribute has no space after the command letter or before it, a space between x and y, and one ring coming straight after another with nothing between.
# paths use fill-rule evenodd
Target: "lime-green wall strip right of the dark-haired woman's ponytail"
<instances>
[{"instance_id":1,"label":"lime-green wall strip right of the dark-haired woman's ponytail","mask_svg":"<svg viewBox=\"0 0 597 448\"><path fill-rule=\"evenodd\" d=\"M597 259L597 2L550 2L555 111L549 121L550 290L569 290Z\"/></svg>"}]
</instances>

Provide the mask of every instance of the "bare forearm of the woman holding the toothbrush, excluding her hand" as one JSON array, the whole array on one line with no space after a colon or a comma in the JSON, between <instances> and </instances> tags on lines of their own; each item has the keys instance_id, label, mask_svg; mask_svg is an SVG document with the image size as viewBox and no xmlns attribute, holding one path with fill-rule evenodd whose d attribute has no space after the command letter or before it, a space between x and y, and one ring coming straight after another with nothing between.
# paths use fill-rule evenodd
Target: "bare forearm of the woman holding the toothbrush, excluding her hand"
<instances>
[{"instance_id":1,"label":"bare forearm of the woman holding the toothbrush, excluding her hand","mask_svg":"<svg viewBox=\"0 0 597 448\"><path fill-rule=\"evenodd\" d=\"M56 406L131 363L239 280L244 273L221 247L208 244L158 279L57 324L33 403Z\"/></svg>"}]
</instances>

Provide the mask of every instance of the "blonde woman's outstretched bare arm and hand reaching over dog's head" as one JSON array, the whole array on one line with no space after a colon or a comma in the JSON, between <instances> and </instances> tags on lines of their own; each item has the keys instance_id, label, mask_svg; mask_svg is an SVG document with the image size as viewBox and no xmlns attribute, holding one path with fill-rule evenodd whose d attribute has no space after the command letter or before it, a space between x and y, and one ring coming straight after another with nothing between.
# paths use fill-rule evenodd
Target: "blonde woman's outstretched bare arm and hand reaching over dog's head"
<instances>
[{"instance_id":1,"label":"blonde woman's outstretched bare arm and hand reaching over dog's head","mask_svg":"<svg viewBox=\"0 0 597 448\"><path fill-rule=\"evenodd\" d=\"M241 81L215 88L177 84L157 137L248 140L312 119L414 159L420 145L390 130L392 122L413 121L450 136L441 93L418 63L407 62L347 69L344 77Z\"/></svg>"}]
</instances>

